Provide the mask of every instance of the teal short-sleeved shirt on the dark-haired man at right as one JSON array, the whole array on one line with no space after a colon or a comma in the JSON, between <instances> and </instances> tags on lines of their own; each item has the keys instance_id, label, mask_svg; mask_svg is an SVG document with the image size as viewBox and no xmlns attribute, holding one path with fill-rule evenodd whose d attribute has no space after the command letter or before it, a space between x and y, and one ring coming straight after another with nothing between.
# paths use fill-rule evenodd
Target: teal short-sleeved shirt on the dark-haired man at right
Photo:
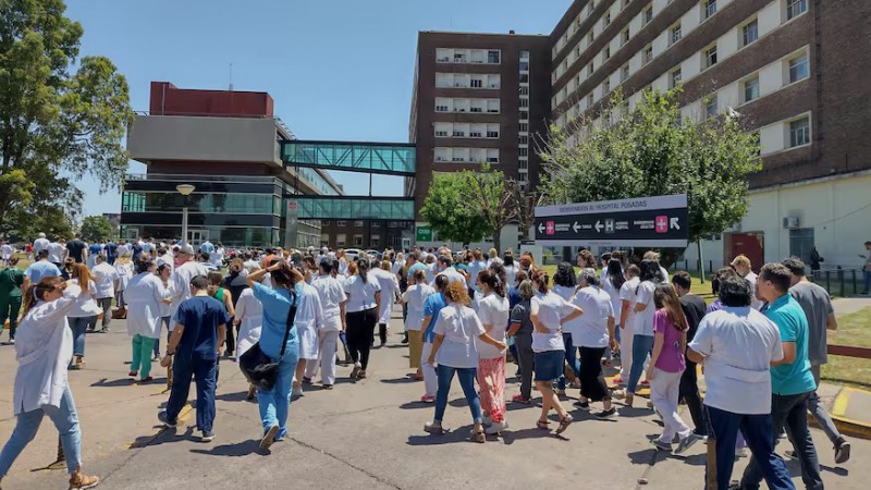
<instances>
[{"instance_id":1,"label":"teal short-sleeved shirt on the dark-haired man at right","mask_svg":"<svg viewBox=\"0 0 871 490\"><path fill-rule=\"evenodd\" d=\"M778 395L807 393L817 389L808 359L808 318L795 298L786 294L765 310L781 331L782 342L796 343L796 360L771 368L771 391Z\"/></svg>"}]
</instances>

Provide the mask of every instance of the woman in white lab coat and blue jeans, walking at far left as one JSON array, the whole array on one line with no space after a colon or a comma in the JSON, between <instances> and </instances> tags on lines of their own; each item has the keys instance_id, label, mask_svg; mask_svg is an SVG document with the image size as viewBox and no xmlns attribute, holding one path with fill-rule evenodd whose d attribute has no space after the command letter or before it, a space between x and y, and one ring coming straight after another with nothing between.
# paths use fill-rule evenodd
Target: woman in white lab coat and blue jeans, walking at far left
<instances>
[{"instance_id":1,"label":"woman in white lab coat and blue jeans, walking at far left","mask_svg":"<svg viewBox=\"0 0 871 490\"><path fill-rule=\"evenodd\" d=\"M66 377L73 355L73 334L66 327L66 315L82 294L81 287L58 277L44 278L25 293L15 343L19 369L13 407L17 420L0 452L0 481L34 439L46 415L60 432L70 489L93 488L100 481L82 473L82 432Z\"/></svg>"}]
</instances>

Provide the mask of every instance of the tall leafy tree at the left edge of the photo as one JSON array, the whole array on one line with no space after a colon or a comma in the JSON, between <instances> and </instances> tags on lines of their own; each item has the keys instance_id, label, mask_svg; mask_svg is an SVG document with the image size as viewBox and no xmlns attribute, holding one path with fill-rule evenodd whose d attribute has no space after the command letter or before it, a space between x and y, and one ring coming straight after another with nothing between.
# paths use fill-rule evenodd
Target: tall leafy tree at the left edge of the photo
<instances>
[{"instance_id":1,"label":"tall leafy tree at the left edge of the photo","mask_svg":"<svg viewBox=\"0 0 871 490\"><path fill-rule=\"evenodd\" d=\"M75 180L116 189L127 168L127 82L107 58L78 59L83 29L65 9L62 0L0 1L0 233L75 212Z\"/></svg>"}]
</instances>

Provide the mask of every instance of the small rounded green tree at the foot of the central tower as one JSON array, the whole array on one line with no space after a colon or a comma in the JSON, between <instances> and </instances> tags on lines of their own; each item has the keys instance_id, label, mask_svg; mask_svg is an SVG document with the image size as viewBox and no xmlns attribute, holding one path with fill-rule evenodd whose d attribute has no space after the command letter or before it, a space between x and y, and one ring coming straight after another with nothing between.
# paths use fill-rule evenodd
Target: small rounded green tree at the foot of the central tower
<instances>
[{"instance_id":1,"label":"small rounded green tree at the foot of the central tower","mask_svg":"<svg viewBox=\"0 0 871 490\"><path fill-rule=\"evenodd\" d=\"M429 221L440 240L468 244L487 236L481 210L470 206L461 172L436 173L420 216Z\"/></svg>"}]
</instances>

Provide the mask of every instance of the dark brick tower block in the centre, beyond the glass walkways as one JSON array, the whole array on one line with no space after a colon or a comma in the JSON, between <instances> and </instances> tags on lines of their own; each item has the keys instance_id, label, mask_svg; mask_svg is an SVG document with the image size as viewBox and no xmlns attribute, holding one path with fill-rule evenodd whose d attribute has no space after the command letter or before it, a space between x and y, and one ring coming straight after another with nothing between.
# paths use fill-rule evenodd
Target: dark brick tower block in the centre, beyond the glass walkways
<instances>
[{"instance_id":1,"label":"dark brick tower block in the centre, beyond the glass walkways","mask_svg":"<svg viewBox=\"0 0 871 490\"><path fill-rule=\"evenodd\" d=\"M524 186L537 185L532 135L544 133L550 114L550 58L548 36L418 35L409 122L417 173L406 184L418 220L433 172L490 163Z\"/></svg>"}]
</instances>

